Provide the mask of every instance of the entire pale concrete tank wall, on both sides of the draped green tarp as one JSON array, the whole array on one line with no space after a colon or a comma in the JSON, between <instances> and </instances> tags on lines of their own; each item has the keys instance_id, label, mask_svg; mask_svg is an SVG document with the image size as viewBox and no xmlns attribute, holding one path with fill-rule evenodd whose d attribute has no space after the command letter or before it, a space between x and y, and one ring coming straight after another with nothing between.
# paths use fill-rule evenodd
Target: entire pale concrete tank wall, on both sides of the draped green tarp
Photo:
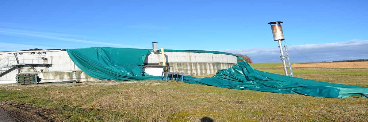
<instances>
[{"instance_id":1,"label":"entire pale concrete tank wall, on both sides of the draped green tarp","mask_svg":"<svg viewBox=\"0 0 368 122\"><path fill-rule=\"evenodd\" d=\"M164 52L164 54L166 65L171 67L170 72L183 72L185 75L215 74L217 70L227 69L237 63L237 56L219 53ZM144 63L162 65L161 52L147 55ZM41 82L99 80L79 69L65 50L0 52L0 69L0 84L16 83L17 74L38 74ZM162 72L159 70L160 72L155 75Z\"/></svg>"}]
</instances>

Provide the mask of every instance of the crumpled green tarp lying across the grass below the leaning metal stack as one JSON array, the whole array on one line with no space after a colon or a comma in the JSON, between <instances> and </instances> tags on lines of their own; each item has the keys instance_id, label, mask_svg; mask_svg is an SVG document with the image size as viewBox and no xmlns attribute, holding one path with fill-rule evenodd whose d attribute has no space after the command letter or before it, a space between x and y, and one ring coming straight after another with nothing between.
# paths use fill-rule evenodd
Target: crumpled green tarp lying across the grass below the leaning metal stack
<instances>
[{"instance_id":1,"label":"crumpled green tarp lying across the grass below the leaning metal stack","mask_svg":"<svg viewBox=\"0 0 368 122\"><path fill-rule=\"evenodd\" d=\"M253 69L247 62L217 71L211 78L184 77L189 84L202 84L230 89L257 90L262 92L302 94L316 97L367 98L368 88L352 85L333 84L285 75L267 73Z\"/></svg>"}]
</instances>

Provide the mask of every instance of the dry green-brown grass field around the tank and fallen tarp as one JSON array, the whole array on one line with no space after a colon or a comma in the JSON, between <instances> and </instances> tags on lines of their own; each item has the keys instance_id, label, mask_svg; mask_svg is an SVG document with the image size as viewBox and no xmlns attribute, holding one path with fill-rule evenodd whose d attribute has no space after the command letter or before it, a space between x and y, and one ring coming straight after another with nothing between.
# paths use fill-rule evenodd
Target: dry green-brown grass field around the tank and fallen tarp
<instances>
[{"instance_id":1,"label":"dry green-brown grass field around the tank and fallen tarp","mask_svg":"<svg viewBox=\"0 0 368 122\"><path fill-rule=\"evenodd\" d=\"M273 67L275 64L259 65L268 66ZM279 69L259 70L283 73ZM294 76L368 87L367 71L304 69L294 70ZM368 99L310 97L182 82L3 84L0 85L0 100L30 103L50 109L55 112L57 121L66 122L199 122L206 117L214 122L368 120Z\"/></svg>"}]
</instances>

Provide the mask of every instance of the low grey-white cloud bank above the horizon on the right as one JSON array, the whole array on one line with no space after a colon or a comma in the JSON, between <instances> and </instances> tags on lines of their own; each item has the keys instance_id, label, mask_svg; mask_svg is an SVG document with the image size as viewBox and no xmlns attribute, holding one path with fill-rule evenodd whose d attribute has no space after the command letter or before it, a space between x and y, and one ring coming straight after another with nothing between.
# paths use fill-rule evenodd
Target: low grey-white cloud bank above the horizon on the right
<instances>
[{"instance_id":1,"label":"low grey-white cloud bank above the horizon on the right","mask_svg":"<svg viewBox=\"0 0 368 122\"><path fill-rule=\"evenodd\" d=\"M288 49L291 62L331 62L339 60L368 59L367 47L368 40L351 40L347 42L325 44L294 45L288 46ZM253 62L281 62L279 59L279 47L226 49L219 51L248 55L251 57Z\"/></svg>"}]
</instances>

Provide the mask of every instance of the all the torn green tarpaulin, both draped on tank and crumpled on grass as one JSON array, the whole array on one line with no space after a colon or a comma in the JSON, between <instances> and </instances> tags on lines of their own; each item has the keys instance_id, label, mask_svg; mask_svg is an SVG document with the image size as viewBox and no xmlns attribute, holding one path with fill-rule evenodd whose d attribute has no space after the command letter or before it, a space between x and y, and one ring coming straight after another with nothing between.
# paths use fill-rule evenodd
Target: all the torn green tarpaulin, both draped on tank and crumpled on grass
<instances>
[{"instance_id":1,"label":"all the torn green tarpaulin, both draped on tank and crumpled on grass","mask_svg":"<svg viewBox=\"0 0 368 122\"><path fill-rule=\"evenodd\" d=\"M94 47L68 49L67 52L79 69L100 80L160 80L161 78L142 73L143 61L146 55L150 54L149 49ZM366 87L267 73L252 68L245 61L229 69L219 70L211 78L185 76L183 80L189 84L317 97L367 98L368 94Z\"/></svg>"}]
</instances>

